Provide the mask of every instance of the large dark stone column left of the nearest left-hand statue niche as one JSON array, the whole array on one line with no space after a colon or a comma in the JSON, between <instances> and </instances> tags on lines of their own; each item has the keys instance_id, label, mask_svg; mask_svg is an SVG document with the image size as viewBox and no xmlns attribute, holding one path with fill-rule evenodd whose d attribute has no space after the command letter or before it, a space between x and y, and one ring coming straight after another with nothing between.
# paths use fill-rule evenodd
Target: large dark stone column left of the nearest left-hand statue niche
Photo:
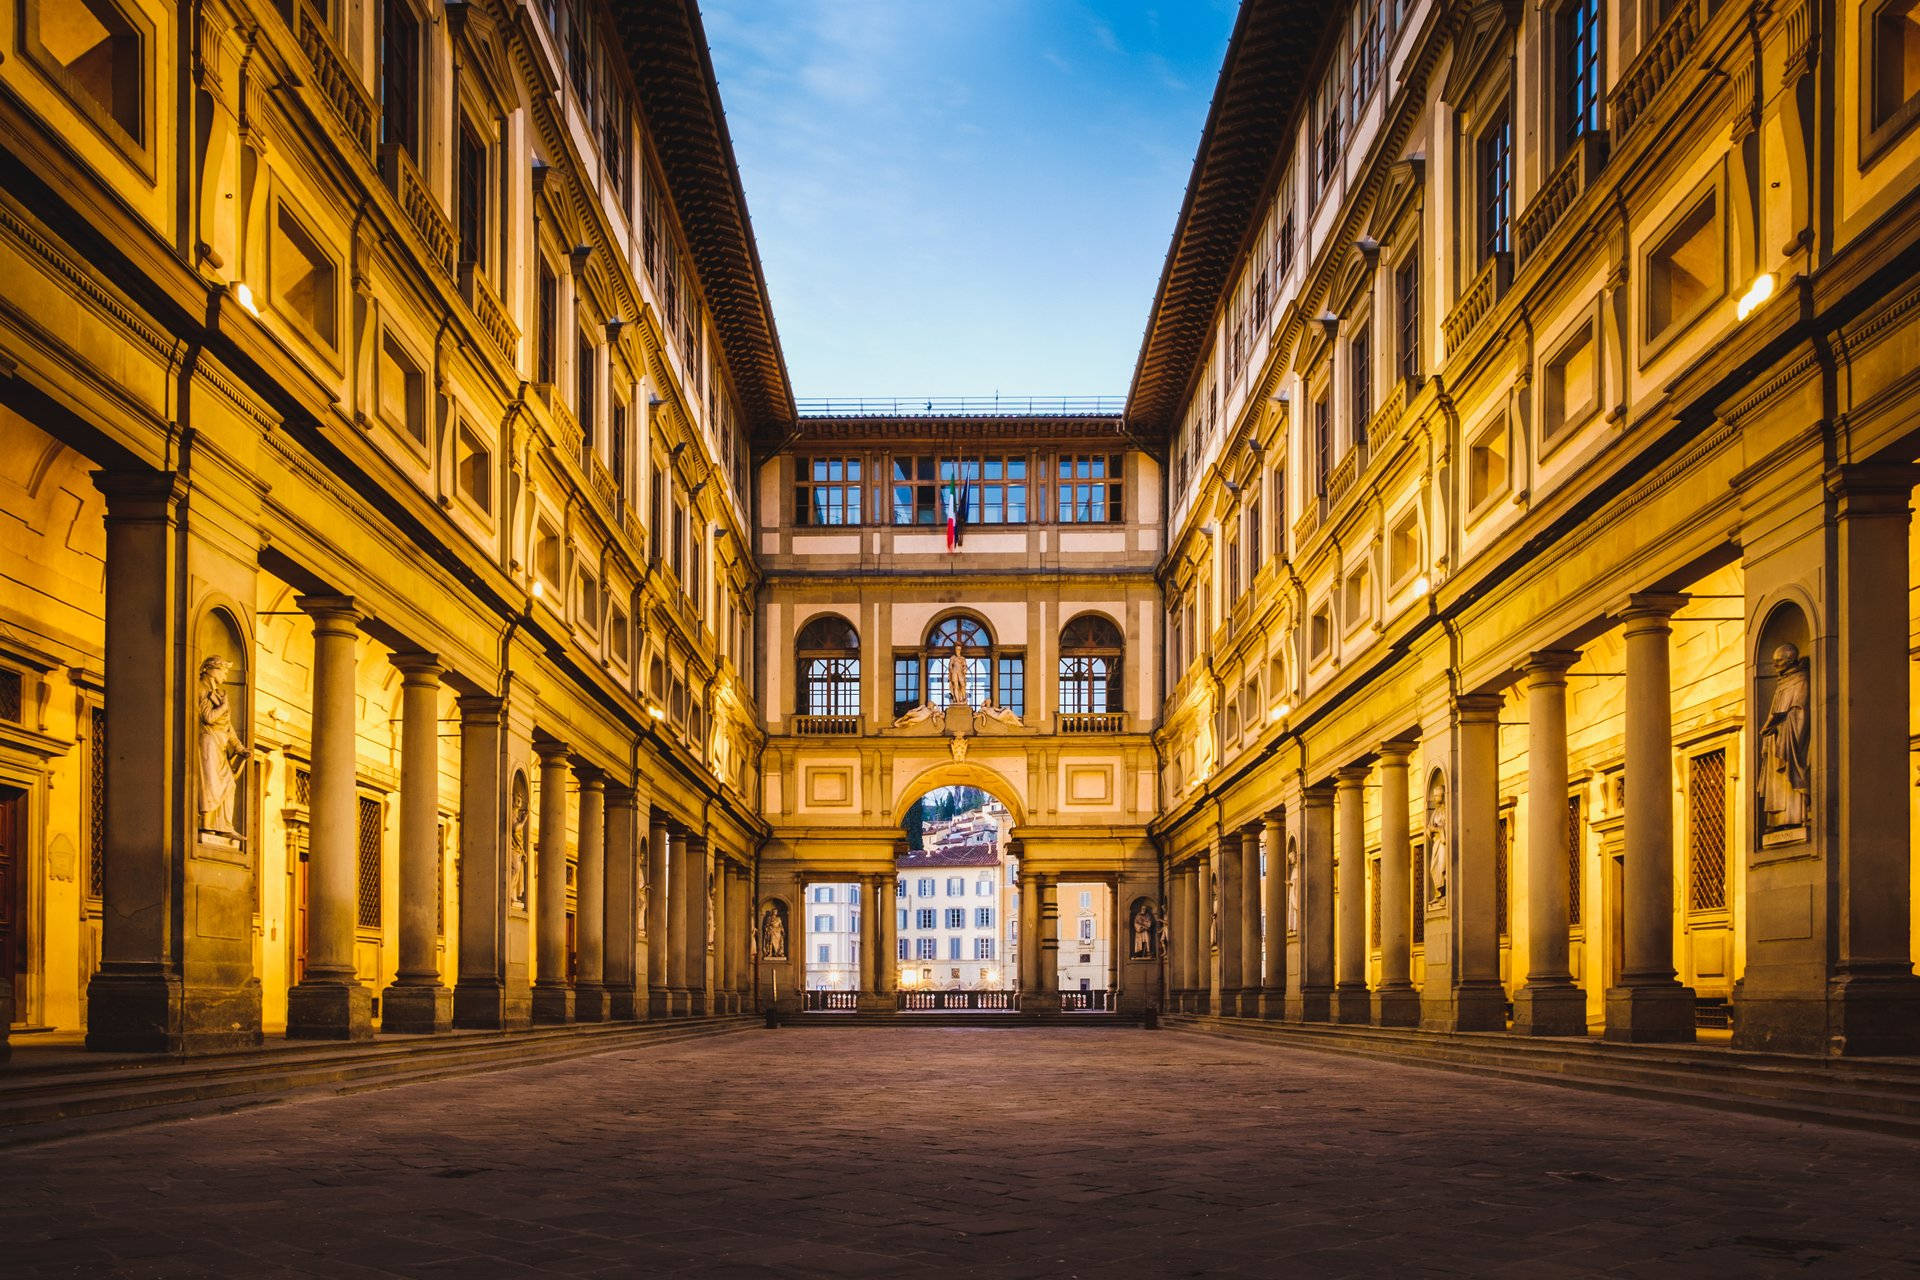
<instances>
[{"instance_id":1,"label":"large dark stone column left of the nearest left-hand statue niche","mask_svg":"<svg viewBox=\"0 0 1920 1280\"><path fill-rule=\"evenodd\" d=\"M180 528L177 472L94 472L108 499L106 856L100 969L86 984L86 1048L177 1054L186 1042L179 889L190 754L180 735ZM257 1006L257 996L255 996ZM0 983L0 1061L12 983ZM255 1013L257 1019L257 1013Z\"/></svg>"}]
</instances>

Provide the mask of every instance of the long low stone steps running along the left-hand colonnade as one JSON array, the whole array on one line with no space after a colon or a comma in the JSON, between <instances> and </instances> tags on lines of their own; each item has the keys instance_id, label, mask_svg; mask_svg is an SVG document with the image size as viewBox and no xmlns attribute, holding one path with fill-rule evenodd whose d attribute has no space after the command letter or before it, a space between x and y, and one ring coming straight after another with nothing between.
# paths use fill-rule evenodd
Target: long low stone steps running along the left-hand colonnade
<instances>
[{"instance_id":1,"label":"long low stone steps running along the left-hand colonnade","mask_svg":"<svg viewBox=\"0 0 1920 1280\"><path fill-rule=\"evenodd\" d=\"M624 1048L668 1044L695 1036L743 1031L758 1019L728 1015L541 1027L509 1032L461 1032L380 1040L250 1050L207 1057L161 1057L106 1063L96 1069L69 1063L8 1069L0 1073L0 1148L63 1136L69 1123L119 1117L113 1125L150 1123L180 1115L205 1115L242 1105L278 1102L300 1092L359 1092L476 1071L563 1061ZM63 1128L67 1126L67 1128Z\"/></svg>"}]
</instances>

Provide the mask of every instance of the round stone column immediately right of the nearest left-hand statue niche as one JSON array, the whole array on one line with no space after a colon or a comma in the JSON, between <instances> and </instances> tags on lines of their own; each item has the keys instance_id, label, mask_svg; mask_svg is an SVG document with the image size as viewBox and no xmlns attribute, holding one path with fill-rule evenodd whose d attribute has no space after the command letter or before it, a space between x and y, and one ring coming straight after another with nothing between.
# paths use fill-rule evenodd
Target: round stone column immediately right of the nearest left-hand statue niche
<instances>
[{"instance_id":1,"label":"round stone column immediately right of the nearest left-hand statue niche","mask_svg":"<svg viewBox=\"0 0 1920 1280\"><path fill-rule=\"evenodd\" d=\"M307 837L307 971L286 992L290 1040L371 1040L372 992L353 963L359 889L357 704L359 610L338 595L303 595L313 618L313 804Z\"/></svg>"}]
</instances>

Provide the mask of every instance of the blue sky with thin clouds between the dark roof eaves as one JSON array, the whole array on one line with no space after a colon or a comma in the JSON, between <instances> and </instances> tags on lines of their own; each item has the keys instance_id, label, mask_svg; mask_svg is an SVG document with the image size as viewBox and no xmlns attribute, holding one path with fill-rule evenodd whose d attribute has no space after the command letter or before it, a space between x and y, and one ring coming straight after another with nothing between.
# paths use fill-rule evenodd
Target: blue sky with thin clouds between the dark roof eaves
<instances>
[{"instance_id":1,"label":"blue sky with thin clouds between the dark roof eaves","mask_svg":"<svg viewBox=\"0 0 1920 1280\"><path fill-rule=\"evenodd\" d=\"M705 0L795 395L1123 395L1233 0Z\"/></svg>"}]
</instances>

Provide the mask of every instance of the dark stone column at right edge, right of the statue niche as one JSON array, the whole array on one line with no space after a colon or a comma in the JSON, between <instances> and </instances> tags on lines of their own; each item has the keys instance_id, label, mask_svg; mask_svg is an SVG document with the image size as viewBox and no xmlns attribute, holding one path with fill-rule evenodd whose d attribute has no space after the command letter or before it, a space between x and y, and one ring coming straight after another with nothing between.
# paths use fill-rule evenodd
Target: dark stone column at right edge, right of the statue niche
<instances>
[{"instance_id":1,"label":"dark stone column at right edge, right of the statue niche","mask_svg":"<svg viewBox=\"0 0 1920 1280\"><path fill-rule=\"evenodd\" d=\"M1814 812L1834 814L1837 898L1828 931L1834 977L1826 1031L1830 1050L1847 1055L1920 1054L1920 979L1908 933L1914 846L1907 737L1912 681L1907 543L1916 478L1910 466L1859 466L1830 482L1839 564L1836 743L1834 764L1822 771L1814 739L1809 773ZM1822 806L1822 775L1834 779L1830 810Z\"/></svg>"}]
</instances>

